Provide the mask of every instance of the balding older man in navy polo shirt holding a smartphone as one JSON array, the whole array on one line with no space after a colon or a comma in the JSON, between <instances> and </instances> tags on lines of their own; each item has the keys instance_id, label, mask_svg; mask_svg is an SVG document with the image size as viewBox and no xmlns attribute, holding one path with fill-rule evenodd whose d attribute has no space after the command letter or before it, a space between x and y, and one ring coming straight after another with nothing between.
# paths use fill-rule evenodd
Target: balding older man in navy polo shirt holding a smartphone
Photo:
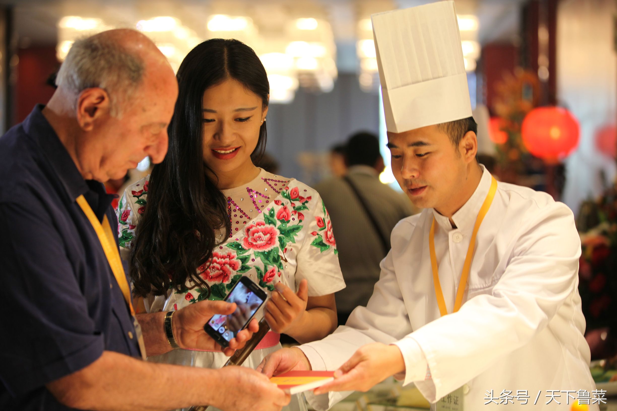
<instances>
[{"instance_id":1,"label":"balding older man in navy polo shirt holding a smartphone","mask_svg":"<svg viewBox=\"0 0 617 411\"><path fill-rule=\"evenodd\" d=\"M172 347L220 349L202 326L235 309L205 301L131 317L101 182L145 156L164 158L178 96L165 57L136 31L106 31L73 45L57 85L47 106L0 138L0 409L280 409L289 396L252 370L139 359ZM114 308L120 301L126 309ZM256 323L249 328L227 354Z\"/></svg>"}]
</instances>

